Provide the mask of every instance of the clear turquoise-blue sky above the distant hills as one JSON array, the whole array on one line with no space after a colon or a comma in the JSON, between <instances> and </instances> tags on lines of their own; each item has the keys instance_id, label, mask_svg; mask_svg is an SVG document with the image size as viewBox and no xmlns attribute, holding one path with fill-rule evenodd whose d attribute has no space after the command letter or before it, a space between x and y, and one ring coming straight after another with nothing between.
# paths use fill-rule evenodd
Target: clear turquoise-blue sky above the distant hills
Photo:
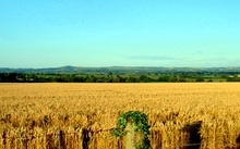
<instances>
[{"instance_id":1,"label":"clear turquoise-blue sky above the distant hills","mask_svg":"<svg viewBox=\"0 0 240 149\"><path fill-rule=\"evenodd\" d=\"M0 67L240 66L239 0L1 0Z\"/></svg>"}]
</instances>

